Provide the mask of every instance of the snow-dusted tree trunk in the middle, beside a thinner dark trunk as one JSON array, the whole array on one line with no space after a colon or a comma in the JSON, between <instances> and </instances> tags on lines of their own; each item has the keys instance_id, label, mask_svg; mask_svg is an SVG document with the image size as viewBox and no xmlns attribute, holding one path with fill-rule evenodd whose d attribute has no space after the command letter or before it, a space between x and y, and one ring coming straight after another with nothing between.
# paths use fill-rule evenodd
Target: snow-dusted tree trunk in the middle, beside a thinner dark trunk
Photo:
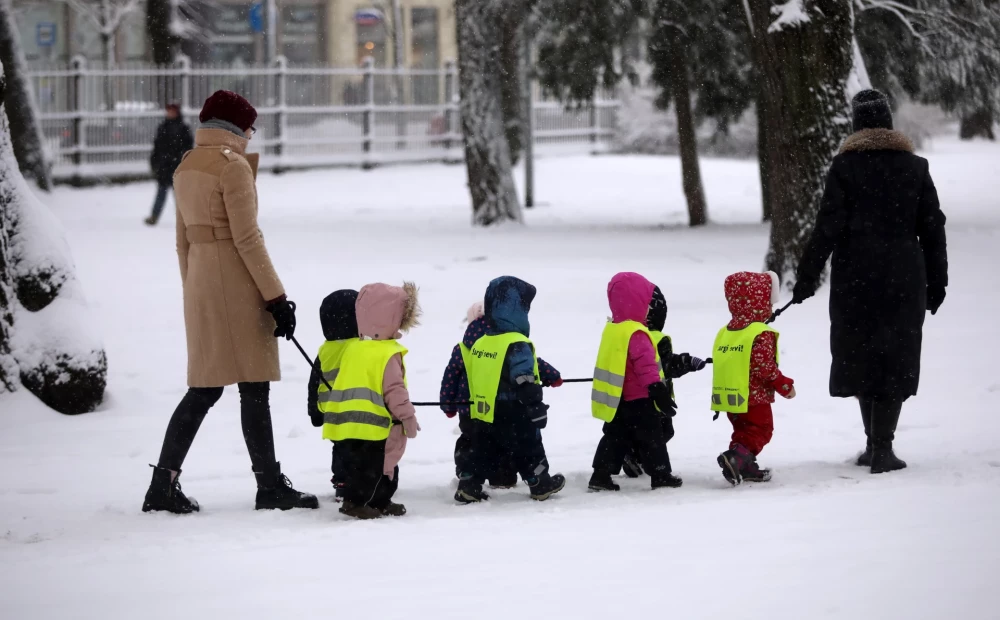
<instances>
[{"instance_id":1,"label":"snow-dusted tree trunk in the middle, beside a thinner dark trunk","mask_svg":"<svg viewBox=\"0 0 1000 620\"><path fill-rule=\"evenodd\" d=\"M456 0L458 86L473 224L522 221L504 134L501 48L504 0Z\"/></svg>"}]
</instances>

